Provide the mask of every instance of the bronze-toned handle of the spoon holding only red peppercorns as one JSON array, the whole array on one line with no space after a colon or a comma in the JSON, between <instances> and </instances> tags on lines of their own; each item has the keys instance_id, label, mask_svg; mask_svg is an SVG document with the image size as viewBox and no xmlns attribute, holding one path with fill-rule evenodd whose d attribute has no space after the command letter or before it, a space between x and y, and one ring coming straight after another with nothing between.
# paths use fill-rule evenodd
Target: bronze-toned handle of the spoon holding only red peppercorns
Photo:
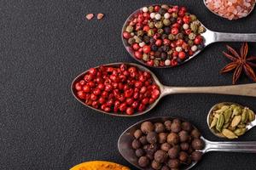
<instances>
[{"instance_id":1,"label":"bronze-toned handle of the spoon holding only red peppercorns","mask_svg":"<svg viewBox=\"0 0 256 170\"><path fill-rule=\"evenodd\" d=\"M230 94L256 97L256 83L212 86L212 87L164 87L163 95L167 94Z\"/></svg>"}]
</instances>

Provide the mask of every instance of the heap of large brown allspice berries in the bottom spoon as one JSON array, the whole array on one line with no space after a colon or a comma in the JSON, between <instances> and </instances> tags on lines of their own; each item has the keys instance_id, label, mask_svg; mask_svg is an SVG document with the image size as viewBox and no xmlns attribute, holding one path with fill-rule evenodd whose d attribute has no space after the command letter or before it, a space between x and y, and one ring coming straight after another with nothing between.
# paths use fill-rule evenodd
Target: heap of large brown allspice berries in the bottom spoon
<instances>
[{"instance_id":1,"label":"heap of large brown allspice berries in the bottom spoon","mask_svg":"<svg viewBox=\"0 0 256 170\"><path fill-rule=\"evenodd\" d=\"M201 133L189 122L179 119L166 122L143 122L135 131L132 148L140 167L179 169L200 161L204 148Z\"/></svg>"}]
</instances>

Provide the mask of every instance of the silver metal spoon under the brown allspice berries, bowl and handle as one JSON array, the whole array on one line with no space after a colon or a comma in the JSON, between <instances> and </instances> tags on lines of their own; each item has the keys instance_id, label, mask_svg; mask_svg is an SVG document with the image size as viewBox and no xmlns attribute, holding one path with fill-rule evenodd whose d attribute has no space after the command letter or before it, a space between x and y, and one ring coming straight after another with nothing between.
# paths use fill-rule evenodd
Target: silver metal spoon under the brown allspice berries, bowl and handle
<instances>
[{"instance_id":1,"label":"silver metal spoon under the brown allspice berries, bowl and handle","mask_svg":"<svg viewBox=\"0 0 256 170\"><path fill-rule=\"evenodd\" d=\"M135 151L131 147L132 140L134 139L133 133L141 127L143 122L165 122L167 120L173 120L173 117L164 116L164 117L154 117L143 120L142 122L137 122L136 124L128 127L124 133L119 137L118 148L120 154L125 158L126 161L129 161L133 166L142 169L142 170L152 170L151 168L139 167L137 163L137 156ZM182 119L181 119L182 120ZM196 128L194 126L194 128ZM244 153L256 153L256 141L253 142L212 142L210 140L201 139L205 142L205 148L201 151L203 154L209 151L226 151L226 152L244 152ZM197 162L193 161L189 166L183 166L181 170L188 170L191 167L194 167Z\"/></svg>"}]
</instances>

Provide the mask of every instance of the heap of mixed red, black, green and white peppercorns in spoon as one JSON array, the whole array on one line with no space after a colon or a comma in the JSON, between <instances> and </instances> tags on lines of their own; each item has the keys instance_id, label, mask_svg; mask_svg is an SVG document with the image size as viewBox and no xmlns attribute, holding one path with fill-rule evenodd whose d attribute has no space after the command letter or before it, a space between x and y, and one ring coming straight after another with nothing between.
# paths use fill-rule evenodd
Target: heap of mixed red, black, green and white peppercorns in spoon
<instances>
[{"instance_id":1,"label":"heap of mixed red, black, green and white peppercorns in spoon","mask_svg":"<svg viewBox=\"0 0 256 170\"><path fill-rule=\"evenodd\" d=\"M126 46L149 66L182 64L203 47L201 26L194 14L178 6L155 5L131 16L123 30Z\"/></svg>"}]
</instances>

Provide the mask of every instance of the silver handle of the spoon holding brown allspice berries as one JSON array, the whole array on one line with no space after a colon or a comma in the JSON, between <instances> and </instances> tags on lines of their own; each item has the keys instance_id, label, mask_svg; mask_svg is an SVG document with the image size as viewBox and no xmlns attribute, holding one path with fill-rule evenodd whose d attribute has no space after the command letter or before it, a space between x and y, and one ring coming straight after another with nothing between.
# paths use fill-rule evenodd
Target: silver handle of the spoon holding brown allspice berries
<instances>
[{"instance_id":1,"label":"silver handle of the spoon holding brown allspice berries","mask_svg":"<svg viewBox=\"0 0 256 170\"><path fill-rule=\"evenodd\" d=\"M256 141L253 142L212 142L206 141L205 152L226 151L256 153Z\"/></svg>"}]
</instances>

